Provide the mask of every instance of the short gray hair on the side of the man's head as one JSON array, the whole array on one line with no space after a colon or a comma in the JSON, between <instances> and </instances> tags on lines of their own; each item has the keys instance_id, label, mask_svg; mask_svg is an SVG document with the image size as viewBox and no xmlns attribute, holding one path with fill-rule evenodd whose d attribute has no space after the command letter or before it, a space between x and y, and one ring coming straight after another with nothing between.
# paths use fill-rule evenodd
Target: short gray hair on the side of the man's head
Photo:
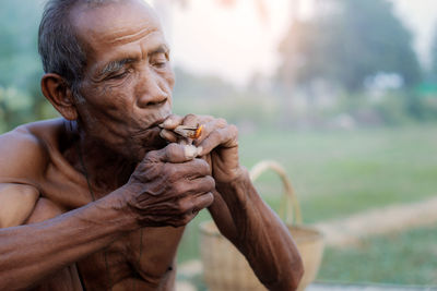
<instances>
[{"instance_id":1,"label":"short gray hair on the side of the man's head","mask_svg":"<svg viewBox=\"0 0 437 291\"><path fill-rule=\"evenodd\" d=\"M48 0L38 31L38 51L46 73L62 76L72 93L79 87L86 65L86 54L71 23L70 12L79 3L97 7L115 0Z\"/></svg>"}]
</instances>

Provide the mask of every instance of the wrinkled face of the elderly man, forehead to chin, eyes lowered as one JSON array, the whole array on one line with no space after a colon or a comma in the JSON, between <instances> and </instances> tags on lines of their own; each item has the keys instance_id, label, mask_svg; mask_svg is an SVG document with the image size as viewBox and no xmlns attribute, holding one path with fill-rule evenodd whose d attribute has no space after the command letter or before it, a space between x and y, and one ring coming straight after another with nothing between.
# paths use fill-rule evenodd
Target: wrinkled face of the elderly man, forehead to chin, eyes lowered
<instances>
[{"instance_id":1,"label":"wrinkled face of the elderly man, forehead to chin, eyes lowered","mask_svg":"<svg viewBox=\"0 0 437 291\"><path fill-rule=\"evenodd\" d=\"M143 1L72 11L86 52L78 105L88 137L139 160L158 147L160 124L172 112L174 73L158 20Z\"/></svg>"}]
</instances>

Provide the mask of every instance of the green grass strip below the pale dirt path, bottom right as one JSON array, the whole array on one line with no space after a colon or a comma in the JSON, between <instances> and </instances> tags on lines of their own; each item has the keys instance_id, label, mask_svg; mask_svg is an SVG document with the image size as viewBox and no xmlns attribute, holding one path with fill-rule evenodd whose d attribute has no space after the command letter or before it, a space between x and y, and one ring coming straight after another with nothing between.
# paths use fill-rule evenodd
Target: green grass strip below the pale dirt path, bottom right
<instances>
[{"instance_id":1,"label":"green grass strip below the pale dirt path, bottom right","mask_svg":"<svg viewBox=\"0 0 437 291\"><path fill-rule=\"evenodd\" d=\"M359 247L327 248L319 280L437 284L437 228L365 240Z\"/></svg>"}]
</instances>

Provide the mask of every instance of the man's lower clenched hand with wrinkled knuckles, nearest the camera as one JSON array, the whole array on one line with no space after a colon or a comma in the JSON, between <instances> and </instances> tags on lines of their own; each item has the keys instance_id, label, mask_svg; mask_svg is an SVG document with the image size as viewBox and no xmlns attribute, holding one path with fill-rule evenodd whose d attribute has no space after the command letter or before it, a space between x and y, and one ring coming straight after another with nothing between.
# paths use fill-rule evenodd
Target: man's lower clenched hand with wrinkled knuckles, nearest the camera
<instances>
[{"instance_id":1,"label":"man's lower clenched hand with wrinkled knuckles, nearest the camera","mask_svg":"<svg viewBox=\"0 0 437 291\"><path fill-rule=\"evenodd\" d=\"M194 146L169 144L149 151L123 186L123 197L141 227L181 227L213 203L215 186Z\"/></svg>"}]
</instances>

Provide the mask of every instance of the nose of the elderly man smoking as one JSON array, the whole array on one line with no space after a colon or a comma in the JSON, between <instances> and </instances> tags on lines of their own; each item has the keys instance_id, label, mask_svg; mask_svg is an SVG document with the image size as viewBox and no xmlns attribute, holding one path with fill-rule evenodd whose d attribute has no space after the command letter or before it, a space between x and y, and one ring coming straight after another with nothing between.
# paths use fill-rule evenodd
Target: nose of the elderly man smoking
<instances>
[{"instance_id":1,"label":"nose of the elderly man smoking","mask_svg":"<svg viewBox=\"0 0 437 291\"><path fill-rule=\"evenodd\" d=\"M168 93L164 89L165 82L153 71L145 69L139 83L137 106L146 108L153 105L164 104L168 98Z\"/></svg>"}]
</instances>

